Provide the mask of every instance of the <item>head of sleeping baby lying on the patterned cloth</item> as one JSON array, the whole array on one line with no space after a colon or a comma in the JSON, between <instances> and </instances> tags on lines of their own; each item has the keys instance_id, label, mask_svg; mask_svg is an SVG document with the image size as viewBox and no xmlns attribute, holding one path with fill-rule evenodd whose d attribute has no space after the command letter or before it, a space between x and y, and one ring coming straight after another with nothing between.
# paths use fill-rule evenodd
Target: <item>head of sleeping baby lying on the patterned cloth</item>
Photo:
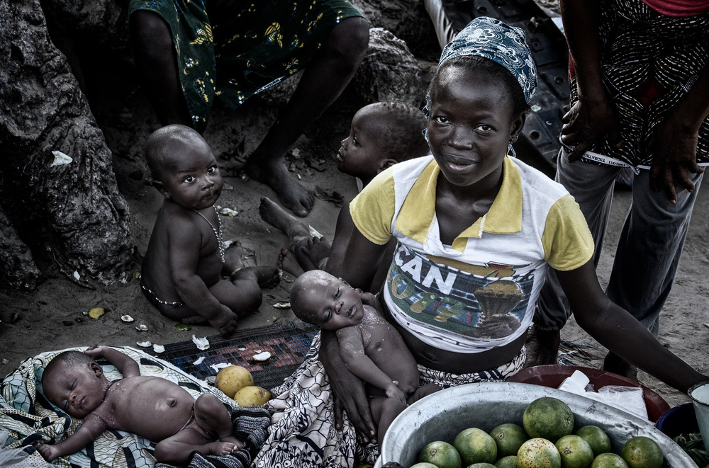
<instances>
[{"instance_id":1,"label":"head of sleeping baby lying on the patterned cloth","mask_svg":"<svg viewBox=\"0 0 709 468\"><path fill-rule=\"evenodd\" d=\"M80 351L60 353L42 375L47 399L73 418L85 418L98 408L109 386L101 366Z\"/></svg>"}]
</instances>

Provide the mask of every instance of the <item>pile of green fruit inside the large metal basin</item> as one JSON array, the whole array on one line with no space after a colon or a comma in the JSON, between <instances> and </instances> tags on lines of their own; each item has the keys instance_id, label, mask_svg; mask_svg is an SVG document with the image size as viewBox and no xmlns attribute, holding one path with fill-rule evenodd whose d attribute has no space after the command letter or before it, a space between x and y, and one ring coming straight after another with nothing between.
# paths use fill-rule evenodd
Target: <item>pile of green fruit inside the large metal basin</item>
<instances>
[{"instance_id":1,"label":"pile of green fruit inside the large metal basin","mask_svg":"<svg viewBox=\"0 0 709 468\"><path fill-rule=\"evenodd\" d=\"M661 468L662 450L651 438L628 439L620 455L598 426L574 432L574 413L559 399L544 396L527 405L523 427L504 423L490 433L462 430L452 443L423 447L411 468Z\"/></svg>"}]
</instances>

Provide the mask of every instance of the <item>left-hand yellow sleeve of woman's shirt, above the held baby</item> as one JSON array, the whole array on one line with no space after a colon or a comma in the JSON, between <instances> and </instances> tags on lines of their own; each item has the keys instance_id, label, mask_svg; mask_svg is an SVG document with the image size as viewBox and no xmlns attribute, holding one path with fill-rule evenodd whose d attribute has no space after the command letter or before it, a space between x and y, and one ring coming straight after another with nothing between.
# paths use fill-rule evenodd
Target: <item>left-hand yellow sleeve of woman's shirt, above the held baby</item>
<instances>
[{"instance_id":1,"label":"left-hand yellow sleeve of woman's shirt, above the held baby","mask_svg":"<svg viewBox=\"0 0 709 468\"><path fill-rule=\"evenodd\" d=\"M350 202L354 226L374 244L386 244L391 238L395 201L394 179L389 168L372 179Z\"/></svg>"}]
</instances>

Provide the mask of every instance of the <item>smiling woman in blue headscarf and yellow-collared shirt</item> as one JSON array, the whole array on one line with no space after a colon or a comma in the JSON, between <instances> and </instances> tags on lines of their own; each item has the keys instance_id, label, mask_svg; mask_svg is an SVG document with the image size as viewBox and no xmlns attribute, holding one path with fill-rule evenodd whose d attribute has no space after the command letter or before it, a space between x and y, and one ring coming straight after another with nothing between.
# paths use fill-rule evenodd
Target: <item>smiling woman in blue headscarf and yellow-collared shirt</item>
<instances>
[{"instance_id":1,"label":"smiling woman in blue headscarf and yellow-collared shirt","mask_svg":"<svg viewBox=\"0 0 709 468\"><path fill-rule=\"evenodd\" d=\"M427 99L432 156L395 164L352 200L355 229L342 278L353 287L369 285L396 238L381 292L384 316L413 354L422 383L446 388L518 372L549 267L579 325L604 346L681 391L709 379L610 302L598 284L579 206L561 185L508 156L536 83L519 28L476 18L445 47ZM364 386L342 363L337 336L321 331L313 348L278 389L284 392L274 409L284 412L272 418L277 423L258 467L274 466L274 454L293 455L314 430L335 439L323 443L336 449L354 442L355 428L376 442ZM307 387L314 382L317 395ZM371 462L371 452L357 455Z\"/></svg>"}]
</instances>

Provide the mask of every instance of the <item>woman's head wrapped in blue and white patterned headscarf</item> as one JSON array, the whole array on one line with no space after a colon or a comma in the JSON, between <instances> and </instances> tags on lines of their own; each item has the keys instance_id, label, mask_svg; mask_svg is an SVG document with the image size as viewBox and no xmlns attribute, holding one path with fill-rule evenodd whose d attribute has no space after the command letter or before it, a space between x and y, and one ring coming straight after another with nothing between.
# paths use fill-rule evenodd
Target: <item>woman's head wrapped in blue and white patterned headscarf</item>
<instances>
[{"instance_id":1,"label":"woman's head wrapped in blue and white patterned headscarf","mask_svg":"<svg viewBox=\"0 0 709 468\"><path fill-rule=\"evenodd\" d=\"M443 49L424 113L441 173L453 186L491 192L524 126L537 72L523 30L471 21Z\"/></svg>"}]
</instances>

